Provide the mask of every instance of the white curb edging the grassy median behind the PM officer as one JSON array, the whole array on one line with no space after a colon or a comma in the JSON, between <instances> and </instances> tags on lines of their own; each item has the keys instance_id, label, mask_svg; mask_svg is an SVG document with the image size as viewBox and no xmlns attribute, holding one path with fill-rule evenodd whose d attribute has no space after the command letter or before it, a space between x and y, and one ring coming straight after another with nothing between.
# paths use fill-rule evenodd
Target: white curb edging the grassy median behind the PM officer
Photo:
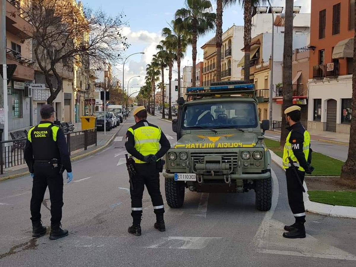
<instances>
[{"instance_id":1,"label":"white curb edging the grassy median behind the PM officer","mask_svg":"<svg viewBox=\"0 0 356 267\"><path fill-rule=\"evenodd\" d=\"M274 163L276 163L280 168L282 168L282 158L279 157L276 153L272 150L271 152L271 159ZM303 200L305 211L309 211L311 213L317 213L320 215L330 216L330 217L339 217L339 218L352 218L356 219L356 207L349 207L349 206L334 206L319 202L314 202L309 200L308 188L307 184L303 183L305 188L305 193L303 193Z\"/></svg>"}]
</instances>

